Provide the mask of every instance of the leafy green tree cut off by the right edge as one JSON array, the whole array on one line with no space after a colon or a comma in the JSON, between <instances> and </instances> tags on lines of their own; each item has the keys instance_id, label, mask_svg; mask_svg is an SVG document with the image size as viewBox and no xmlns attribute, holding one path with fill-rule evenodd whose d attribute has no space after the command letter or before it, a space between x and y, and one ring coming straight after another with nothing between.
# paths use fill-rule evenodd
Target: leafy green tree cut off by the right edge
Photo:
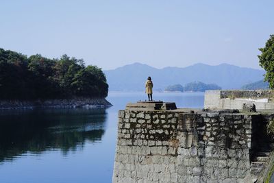
<instances>
[{"instance_id":1,"label":"leafy green tree cut off by the right edge","mask_svg":"<svg viewBox=\"0 0 274 183\"><path fill-rule=\"evenodd\" d=\"M262 52L258 56L260 66L266 71L264 81L269 82L269 88L274 89L274 35L271 35L265 47L259 50Z\"/></svg>"}]
</instances>

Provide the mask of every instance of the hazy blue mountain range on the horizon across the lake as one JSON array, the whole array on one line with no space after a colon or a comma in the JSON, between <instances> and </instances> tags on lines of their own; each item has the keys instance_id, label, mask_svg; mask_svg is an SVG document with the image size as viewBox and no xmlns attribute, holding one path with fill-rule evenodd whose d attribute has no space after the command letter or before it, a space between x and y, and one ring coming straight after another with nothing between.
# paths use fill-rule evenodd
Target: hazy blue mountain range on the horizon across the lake
<instances>
[{"instance_id":1,"label":"hazy blue mountain range on the horizon across the lake","mask_svg":"<svg viewBox=\"0 0 274 183\"><path fill-rule=\"evenodd\" d=\"M238 89L245 84L263 80L265 71L230 64L194 64L184 68L169 66L156 69L147 64L134 63L104 73L110 90L137 91L144 90L148 76L153 80L154 90L164 90L169 85L190 82L217 84L223 89Z\"/></svg>"}]
</instances>

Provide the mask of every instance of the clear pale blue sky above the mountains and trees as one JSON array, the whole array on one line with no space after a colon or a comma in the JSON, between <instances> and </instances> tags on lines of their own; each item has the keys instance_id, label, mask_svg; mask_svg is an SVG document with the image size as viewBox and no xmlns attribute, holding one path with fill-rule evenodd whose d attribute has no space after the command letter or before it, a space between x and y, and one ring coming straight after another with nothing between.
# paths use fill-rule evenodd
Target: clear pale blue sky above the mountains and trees
<instances>
[{"instance_id":1,"label":"clear pale blue sky above the mountains and trees","mask_svg":"<svg viewBox=\"0 0 274 183\"><path fill-rule=\"evenodd\" d=\"M66 53L114 69L235 64L260 69L274 34L274 1L2 0L0 47L30 56Z\"/></svg>"}]
</instances>

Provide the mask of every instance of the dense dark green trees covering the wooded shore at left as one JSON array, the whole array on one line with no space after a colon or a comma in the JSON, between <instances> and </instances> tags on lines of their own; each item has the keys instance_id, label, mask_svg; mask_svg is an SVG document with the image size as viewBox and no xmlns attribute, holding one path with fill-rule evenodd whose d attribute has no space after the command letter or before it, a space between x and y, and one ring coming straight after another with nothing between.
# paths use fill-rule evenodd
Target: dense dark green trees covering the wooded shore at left
<instances>
[{"instance_id":1,"label":"dense dark green trees covering the wooded shore at left","mask_svg":"<svg viewBox=\"0 0 274 183\"><path fill-rule=\"evenodd\" d=\"M107 97L105 74L84 60L49 59L0 49L0 99Z\"/></svg>"}]
</instances>

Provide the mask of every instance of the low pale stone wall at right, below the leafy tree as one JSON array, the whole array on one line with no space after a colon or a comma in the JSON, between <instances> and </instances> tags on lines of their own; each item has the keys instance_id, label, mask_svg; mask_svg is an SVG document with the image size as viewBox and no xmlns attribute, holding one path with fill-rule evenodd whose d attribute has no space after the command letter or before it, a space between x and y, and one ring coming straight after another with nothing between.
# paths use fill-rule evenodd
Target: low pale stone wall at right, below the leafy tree
<instances>
[{"instance_id":1,"label":"low pale stone wall at right, below the leafy tree","mask_svg":"<svg viewBox=\"0 0 274 183\"><path fill-rule=\"evenodd\" d=\"M238 109L243 103L256 105L256 109L274 109L273 90L206 90L204 108Z\"/></svg>"}]
</instances>

